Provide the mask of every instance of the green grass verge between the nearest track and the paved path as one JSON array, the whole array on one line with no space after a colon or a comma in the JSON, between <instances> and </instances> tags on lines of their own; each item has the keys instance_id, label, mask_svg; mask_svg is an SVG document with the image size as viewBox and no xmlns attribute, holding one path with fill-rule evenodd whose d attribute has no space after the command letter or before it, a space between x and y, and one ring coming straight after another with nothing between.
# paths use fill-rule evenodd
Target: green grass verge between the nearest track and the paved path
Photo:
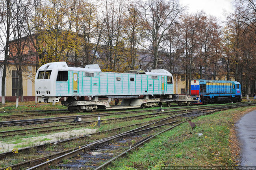
<instances>
[{"instance_id":1,"label":"green grass verge between the nearest track and the paved path","mask_svg":"<svg viewBox=\"0 0 256 170\"><path fill-rule=\"evenodd\" d=\"M115 161L109 169L142 170L168 165L233 166L235 160L228 146L230 128L234 126L233 114L248 108L200 116L192 120L197 125L194 129L188 123L183 123ZM203 135L198 137L198 133Z\"/></svg>"}]
</instances>

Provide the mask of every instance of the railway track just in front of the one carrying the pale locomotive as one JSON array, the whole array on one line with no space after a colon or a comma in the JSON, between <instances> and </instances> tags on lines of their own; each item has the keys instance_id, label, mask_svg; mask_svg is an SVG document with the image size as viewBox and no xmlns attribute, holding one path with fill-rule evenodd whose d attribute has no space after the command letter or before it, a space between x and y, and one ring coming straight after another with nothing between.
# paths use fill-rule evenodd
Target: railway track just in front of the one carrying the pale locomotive
<instances>
[{"instance_id":1,"label":"railway track just in front of the one carrying the pale locomotive","mask_svg":"<svg viewBox=\"0 0 256 170\"><path fill-rule=\"evenodd\" d=\"M241 105L242 103L235 104L235 105ZM213 106L201 106L201 107L178 107L175 108L175 110L178 109L193 109L193 108L211 108ZM219 107L219 106L215 106ZM121 111L121 112L114 112L114 113L97 113L97 114L91 114L91 115L74 115L74 116L61 116L61 117L53 117L53 118L38 118L38 119L27 119L27 120L12 120L12 121L2 121L0 122L0 127L6 127L6 126L24 126L24 125L30 125L30 124L43 124L43 123L49 123L49 122L64 122L65 120L74 120L74 118L91 118L95 116L110 116L110 115L121 115L121 114L128 114L128 113L145 113L150 111L158 111L159 109L150 109L150 110L139 110L139 111ZM166 111L174 110L173 108L167 108Z\"/></svg>"}]
</instances>

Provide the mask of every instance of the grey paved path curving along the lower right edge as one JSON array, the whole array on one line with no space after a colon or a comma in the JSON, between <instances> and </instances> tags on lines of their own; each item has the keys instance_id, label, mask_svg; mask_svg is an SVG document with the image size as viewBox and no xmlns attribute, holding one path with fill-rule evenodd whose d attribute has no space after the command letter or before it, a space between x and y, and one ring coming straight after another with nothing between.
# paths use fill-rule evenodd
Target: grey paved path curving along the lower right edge
<instances>
[{"instance_id":1,"label":"grey paved path curving along the lower right edge","mask_svg":"<svg viewBox=\"0 0 256 170\"><path fill-rule=\"evenodd\" d=\"M256 166L256 110L244 115L236 124L242 166Z\"/></svg>"}]
</instances>

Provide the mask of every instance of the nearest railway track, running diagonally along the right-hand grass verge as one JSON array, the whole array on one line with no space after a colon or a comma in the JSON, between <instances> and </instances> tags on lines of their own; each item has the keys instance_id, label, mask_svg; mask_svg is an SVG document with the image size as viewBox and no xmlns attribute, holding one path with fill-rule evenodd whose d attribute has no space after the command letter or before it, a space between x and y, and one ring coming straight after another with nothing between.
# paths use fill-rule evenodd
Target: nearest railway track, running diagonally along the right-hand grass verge
<instances>
[{"instance_id":1,"label":"nearest railway track, running diagonally along the right-hand grass verge","mask_svg":"<svg viewBox=\"0 0 256 170\"><path fill-rule=\"evenodd\" d=\"M248 106L248 104L247 105L240 105L240 107L243 107L243 106ZM120 156L124 155L125 153L133 150L135 147L138 147L139 145L143 144L143 142L146 142L146 141L152 139L153 137L155 137L156 135L158 135L160 133L163 133L164 131L167 131L167 130L175 127L175 126L178 126L179 124L181 124L183 122L186 122L187 120L190 120L190 119L195 118L195 117L200 116L200 115L210 114L210 113L215 112L215 111L224 110L224 109L231 109L231 108L236 108L236 107L238 107L238 106L219 107L219 109L215 109L214 111L209 111L210 109L206 109L204 111L204 113L202 111L193 111L193 112L189 112L189 113L182 113L182 114L179 114L179 115L170 116L168 118L164 118L164 119L159 120L157 122L152 122L150 124L138 127L136 129L132 129L131 131L121 133L119 135L114 135L112 137L108 137L108 138L104 138L104 139L100 139L100 140L95 140L93 142L90 142L88 144L85 144L85 145L77 147L77 148L72 148L72 149L67 150L67 151L62 151L62 152L54 153L54 154L49 155L49 156L40 157L38 159L27 161L27 163L20 163L20 164L13 165L11 167L12 167L12 169L16 169L16 168L20 168L21 166L28 167L28 164L30 164L29 166L33 166L33 167L28 168L28 169L35 169L35 168L43 169L43 168L48 167L49 164L51 164L51 165L52 164L58 164L59 162L63 161L64 159L69 159L70 157L74 157L78 154L81 155L81 153L83 153L83 155L85 155L85 157L86 156L88 157L88 154L90 154L92 151L97 151L99 148L102 148L102 147L104 148L104 146L108 146L109 142L111 142L113 140L119 141L119 139L124 138L125 136L131 136L133 134L137 134L137 133L140 133L140 132L144 133L145 131L151 131L151 129L154 129L154 128L159 128L159 127L171 125L171 127L165 128L164 130L157 131L157 132L155 131L155 134L148 134L149 136L146 137L146 138L142 138L142 139L137 138L138 139L137 143L135 145L130 146L130 148L126 148L125 152L123 152L123 153L121 153L117 156L117 157L120 157ZM184 118L184 116L186 116L186 117ZM178 120L173 120L173 118L178 118L178 117L182 117L182 118L180 118ZM157 124L159 124L159 125L157 125ZM101 168L102 166L106 166L107 164L111 163L111 161L113 161L117 157L113 157L113 156L108 157L108 159L111 159L111 160L108 161L107 163L104 163L103 165L99 165L99 168ZM104 157L102 159L105 159L105 158L106 157ZM37 164L37 165L35 165L35 164ZM59 164L59 166L63 166L63 164ZM78 165L76 164L76 167L77 166Z\"/></svg>"}]
</instances>

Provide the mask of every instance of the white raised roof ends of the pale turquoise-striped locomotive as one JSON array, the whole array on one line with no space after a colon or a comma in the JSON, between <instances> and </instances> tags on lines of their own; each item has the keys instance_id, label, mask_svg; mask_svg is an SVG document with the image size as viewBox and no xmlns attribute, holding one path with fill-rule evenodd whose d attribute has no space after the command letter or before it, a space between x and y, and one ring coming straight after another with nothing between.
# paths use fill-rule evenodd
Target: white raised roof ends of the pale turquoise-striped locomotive
<instances>
[{"instance_id":1,"label":"white raised roof ends of the pale turquoise-striped locomotive","mask_svg":"<svg viewBox=\"0 0 256 170\"><path fill-rule=\"evenodd\" d=\"M88 72L101 72L100 67L97 64L86 65L85 68L81 67L69 67L66 62L54 62L42 65L38 70L51 70L53 68L58 68L58 70L73 70L73 71L88 71ZM137 73L138 74L138 73ZM150 72L145 72L147 75L156 76L172 76L172 74L164 69L151 70Z\"/></svg>"}]
</instances>

